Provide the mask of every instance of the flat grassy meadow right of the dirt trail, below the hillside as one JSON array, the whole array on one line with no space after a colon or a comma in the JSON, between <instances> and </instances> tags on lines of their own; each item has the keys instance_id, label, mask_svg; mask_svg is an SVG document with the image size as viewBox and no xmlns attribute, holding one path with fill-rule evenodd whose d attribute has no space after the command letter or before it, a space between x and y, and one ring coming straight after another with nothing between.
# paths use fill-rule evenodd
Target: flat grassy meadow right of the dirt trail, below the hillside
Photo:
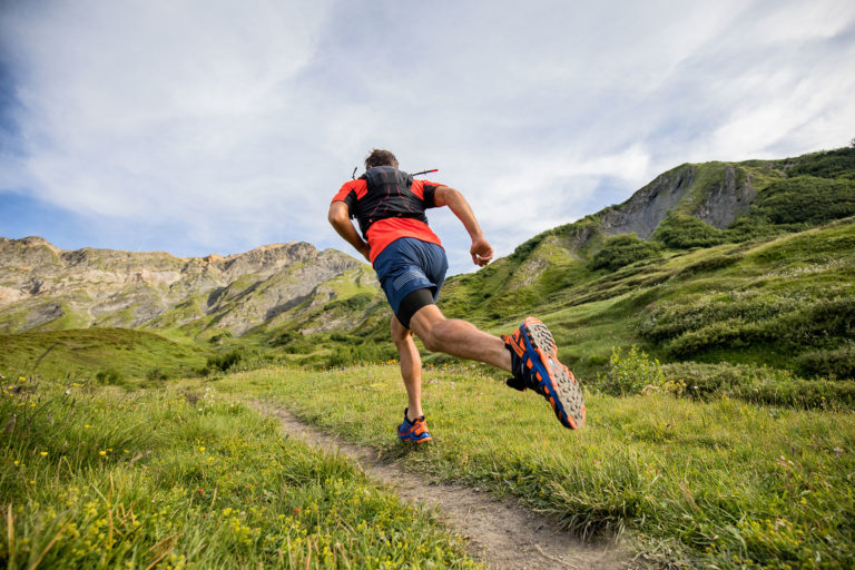
<instances>
[{"instance_id":1,"label":"flat grassy meadow right of the dirt trail, below the hillside","mask_svg":"<svg viewBox=\"0 0 855 570\"><path fill-rule=\"evenodd\" d=\"M710 568L841 568L855 559L855 414L720 397L587 394L570 432L542 397L476 368L428 370L434 441L397 443L396 366L269 370L218 390L301 416L441 480L513 494L591 535L628 531L647 560Z\"/></svg>"}]
</instances>

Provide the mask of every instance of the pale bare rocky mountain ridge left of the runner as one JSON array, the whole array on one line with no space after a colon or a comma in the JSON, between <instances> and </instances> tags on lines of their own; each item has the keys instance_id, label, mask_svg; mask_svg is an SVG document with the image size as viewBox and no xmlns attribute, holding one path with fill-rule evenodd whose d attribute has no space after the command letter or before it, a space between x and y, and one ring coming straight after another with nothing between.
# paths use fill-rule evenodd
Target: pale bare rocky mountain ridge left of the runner
<instances>
[{"instance_id":1,"label":"pale bare rocky mountain ridge left of the runner","mask_svg":"<svg viewBox=\"0 0 855 570\"><path fill-rule=\"evenodd\" d=\"M377 287L365 264L306 243L175 257L0 238L0 331L193 325L240 335L345 274Z\"/></svg>"}]
</instances>

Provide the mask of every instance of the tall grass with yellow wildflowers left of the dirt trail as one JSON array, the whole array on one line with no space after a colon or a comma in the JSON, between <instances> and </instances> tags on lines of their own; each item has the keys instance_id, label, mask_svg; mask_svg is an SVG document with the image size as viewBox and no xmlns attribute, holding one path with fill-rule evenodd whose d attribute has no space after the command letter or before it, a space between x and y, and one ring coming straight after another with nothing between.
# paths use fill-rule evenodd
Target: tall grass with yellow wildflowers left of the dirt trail
<instances>
[{"instance_id":1,"label":"tall grass with yellow wildflowers left of the dirt trail","mask_svg":"<svg viewBox=\"0 0 855 570\"><path fill-rule=\"evenodd\" d=\"M3 380L4 568L471 568L344 459L210 387Z\"/></svg>"}]
</instances>

